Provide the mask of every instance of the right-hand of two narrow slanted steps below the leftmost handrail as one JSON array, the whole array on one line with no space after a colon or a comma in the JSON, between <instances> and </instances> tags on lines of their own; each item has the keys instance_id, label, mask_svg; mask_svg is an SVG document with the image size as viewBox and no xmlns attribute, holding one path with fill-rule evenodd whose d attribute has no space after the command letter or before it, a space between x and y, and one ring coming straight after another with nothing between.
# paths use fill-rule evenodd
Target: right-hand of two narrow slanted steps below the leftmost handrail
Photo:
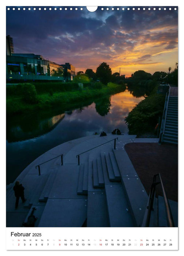
<instances>
[{"instance_id":1,"label":"right-hand of two narrow slanted steps below the leftmost handrail","mask_svg":"<svg viewBox=\"0 0 184 256\"><path fill-rule=\"evenodd\" d=\"M56 174L58 169L50 169L49 177L45 183L45 186L43 188L43 191L39 197L39 202L47 202L47 199L49 197L49 193L51 191L51 188L53 186Z\"/></svg>"}]
</instances>

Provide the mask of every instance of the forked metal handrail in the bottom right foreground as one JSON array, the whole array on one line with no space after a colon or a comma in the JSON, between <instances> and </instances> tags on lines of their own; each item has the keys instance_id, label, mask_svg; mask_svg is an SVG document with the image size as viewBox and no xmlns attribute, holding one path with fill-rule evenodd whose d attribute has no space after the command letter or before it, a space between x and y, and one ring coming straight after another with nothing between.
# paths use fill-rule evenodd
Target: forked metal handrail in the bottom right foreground
<instances>
[{"instance_id":1,"label":"forked metal handrail in the bottom right foreground","mask_svg":"<svg viewBox=\"0 0 184 256\"><path fill-rule=\"evenodd\" d=\"M159 177L159 179L160 179L160 181L158 181L158 182L156 182L157 177ZM153 211L153 203L154 203L154 199L156 197L156 186L158 184L161 184L161 187L162 187L162 193L163 193L163 197L164 197L168 227L174 227L172 213L170 211L169 202L168 202L168 199L167 199L167 196L166 196L166 193L165 193L165 189L164 189L164 185L163 185L160 173L155 174L154 177L153 177L153 183L152 183L152 186L151 186L151 189L150 189L150 195L149 195L149 204L147 206L147 217L146 217L145 223L143 223L142 226L149 227L149 225L150 225L150 218L151 218L151 214L152 214L152 211Z\"/></svg>"}]
</instances>

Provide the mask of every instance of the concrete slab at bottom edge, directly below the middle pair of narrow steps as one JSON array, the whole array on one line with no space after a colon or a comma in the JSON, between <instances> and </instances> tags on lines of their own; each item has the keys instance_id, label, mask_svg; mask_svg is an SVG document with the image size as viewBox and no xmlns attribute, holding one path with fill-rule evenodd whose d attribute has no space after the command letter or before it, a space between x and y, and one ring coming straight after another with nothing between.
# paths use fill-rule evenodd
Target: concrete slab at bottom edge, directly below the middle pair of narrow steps
<instances>
[{"instance_id":1,"label":"concrete slab at bottom edge, directly below the middle pair of narrow steps","mask_svg":"<svg viewBox=\"0 0 184 256\"><path fill-rule=\"evenodd\" d=\"M88 192L87 227L109 227L106 193L101 191Z\"/></svg>"}]
</instances>

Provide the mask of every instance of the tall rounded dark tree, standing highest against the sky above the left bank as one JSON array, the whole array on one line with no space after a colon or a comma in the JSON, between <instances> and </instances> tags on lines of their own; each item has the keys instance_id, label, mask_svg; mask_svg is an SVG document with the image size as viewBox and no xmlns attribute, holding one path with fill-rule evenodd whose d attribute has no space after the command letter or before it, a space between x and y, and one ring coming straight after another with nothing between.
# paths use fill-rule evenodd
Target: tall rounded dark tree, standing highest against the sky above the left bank
<instances>
[{"instance_id":1,"label":"tall rounded dark tree, standing highest against the sky above the left bank","mask_svg":"<svg viewBox=\"0 0 184 256\"><path fill-rule=\"evenodd\" d=\"M101 63L96 68L96 76L103 84L107 84L108 82L111 81L111 75L112 75L111 68L106 62Z\"/></svg>"}]
</instances>

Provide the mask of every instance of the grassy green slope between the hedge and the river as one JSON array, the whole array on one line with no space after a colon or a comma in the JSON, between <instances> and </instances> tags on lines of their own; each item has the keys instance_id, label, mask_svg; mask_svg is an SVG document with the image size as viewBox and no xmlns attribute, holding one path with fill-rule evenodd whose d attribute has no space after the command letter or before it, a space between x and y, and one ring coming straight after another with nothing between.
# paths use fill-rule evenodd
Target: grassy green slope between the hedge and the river
<instances>
[{"instance_id":1,"label":"grassy green slope between the hedge and the river","mask_svg":"<svg viewBox=\"0 0 184 256\"><path fill-rule=\"evenodd\" d=\"M36 87L36 86L35 86ZM96 86L95 86L96 87ZM51 88L52 89L52 88ZM100 88L93 88L91 85L85 85L83 89L77 88L71 91L51 91L36 95L34 102L25 101L21 93L7 94L7 115L25 113L39 109L49 109L62 105L83 102L87 99L102 97L104 95L116 94L124 91L124 85L108 83L107 86L101 85Z\"/></svg>"}]
</instances>

